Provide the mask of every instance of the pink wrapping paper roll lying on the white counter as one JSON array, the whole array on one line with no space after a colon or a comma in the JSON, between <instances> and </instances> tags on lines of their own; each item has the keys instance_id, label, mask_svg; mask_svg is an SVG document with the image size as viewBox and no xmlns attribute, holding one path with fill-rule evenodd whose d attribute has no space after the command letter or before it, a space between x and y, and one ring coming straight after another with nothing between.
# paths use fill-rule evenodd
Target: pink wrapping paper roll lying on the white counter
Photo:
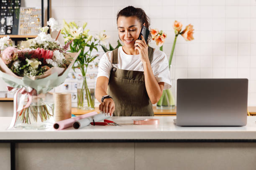
<instances>
[{"instance_id":1,"label":"pink wrapping paper roll lying on the white counter","mask_svg":"<svg viewBox=\"0 0 256 170\"><path fill-rule=\"evenodd\" d=\"M87 113L87 114L84 114L84 115L81 115L81 116L69 118L69 119L66 119L66 120L61 120L59 122L54 123L54 129L62 130L62 129L65 129L65 128L69 128L69 127L73 126L73 123L76 122L77 120L84 119L86 117L90 117L90 116L93 116L93 115L96 115L96 114L97 114L97 112L90 112L90 113Z\"/></svg>"}]
</instances>

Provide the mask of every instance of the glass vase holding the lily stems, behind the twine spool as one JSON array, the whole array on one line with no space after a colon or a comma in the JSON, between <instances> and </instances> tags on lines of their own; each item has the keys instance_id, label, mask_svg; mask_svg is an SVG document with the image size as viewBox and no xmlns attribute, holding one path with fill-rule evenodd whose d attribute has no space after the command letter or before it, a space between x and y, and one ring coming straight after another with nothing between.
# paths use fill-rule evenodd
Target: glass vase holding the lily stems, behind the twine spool
<instances>
[{"instance_id":1,"label":"glass vase holding the lily stems, behind the twine spool","mask_svg":"<svg viewBox=\"0 0 256 170\"><path fill-rule=\"evenodd\" d=\"M95 89L88 88L86 77L77 82L77 108L80 110L95 109Z\"/></svg>"}]
</instances>

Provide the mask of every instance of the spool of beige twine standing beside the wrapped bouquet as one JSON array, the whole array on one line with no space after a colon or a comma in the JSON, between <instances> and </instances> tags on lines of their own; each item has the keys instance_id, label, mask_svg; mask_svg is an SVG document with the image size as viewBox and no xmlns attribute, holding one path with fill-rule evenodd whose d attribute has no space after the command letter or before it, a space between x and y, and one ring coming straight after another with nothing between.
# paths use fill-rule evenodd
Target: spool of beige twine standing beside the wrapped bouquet
<instances>
[{"instance_id":1,"label":"spool of beige twine standing beside the wrapped bouquet","mask_svg":"<svg viewBox=\"0 0 256 170\"><path fill-rule=\"evenodd\" d=\"M71 94L54 93L55 122L71 118Z\"/></svg>"}]
</instances>

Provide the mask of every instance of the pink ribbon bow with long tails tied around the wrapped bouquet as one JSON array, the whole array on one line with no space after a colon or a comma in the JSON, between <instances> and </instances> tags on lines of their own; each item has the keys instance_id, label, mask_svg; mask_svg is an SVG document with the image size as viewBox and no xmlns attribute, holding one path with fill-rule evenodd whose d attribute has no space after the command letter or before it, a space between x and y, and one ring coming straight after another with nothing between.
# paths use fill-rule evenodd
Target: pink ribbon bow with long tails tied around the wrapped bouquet
<instances>
[{"instance_id":1,"label":"pink ribbon bow with long tails tied around the wrapped bouquet","mask_svg":"<svg viewBox=\"0 0 256 170\"><path fill-rule=\"evenodd\" d=\"M25 87L22 87L22 88L14 88L14 87L10 87L10 86L7 86L7 90L8 92L15 92L14 94L14 97L13 97L13 119L10 123L10 126L8 129L11 129L14 127L15 125L15 122L17 120L17 117L18 117L18 114L17 112L24 109L24 108L27 108L31 105L31 102L32 102L32 95L33 94L36 94L36 90L33 89L33 88L28 88L28 91L26 91L26 88ZM18 93L20 93L21 95L23 95L23 97L20 97L20 104L19 104L19 107L18 107ZM24 100L25 100L25 97L26 95L28 95L28 100L27 100L27 104L24 106Z\"/></svg>"}]
</instances>

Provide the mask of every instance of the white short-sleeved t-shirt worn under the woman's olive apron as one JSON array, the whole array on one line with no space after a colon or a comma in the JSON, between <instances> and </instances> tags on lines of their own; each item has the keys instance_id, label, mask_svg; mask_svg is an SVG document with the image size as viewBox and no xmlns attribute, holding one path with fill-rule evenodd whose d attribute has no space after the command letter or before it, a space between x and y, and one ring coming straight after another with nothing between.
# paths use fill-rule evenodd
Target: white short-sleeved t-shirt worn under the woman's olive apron
<instances>
[{"instance_id":1,"label":"white short-sleeved t-shirt worn under the woman's olive apron","mask_svg":"<svg viewBox=\"0 0 256 170\"><path fill-rule=\"evenodd\" d=\"M140 55L128 55L123 51L122 46L118 48L118 64L112 64L112 55L112 51L102 55L97 77L105 76L109 79L112 67L122 70L144 71ZM157 49L154 50L151 68L156 81L164 82L164 90L169 89L171 87L171 79L168 60L164 52Z\"/></svg>"}]
</instances>

